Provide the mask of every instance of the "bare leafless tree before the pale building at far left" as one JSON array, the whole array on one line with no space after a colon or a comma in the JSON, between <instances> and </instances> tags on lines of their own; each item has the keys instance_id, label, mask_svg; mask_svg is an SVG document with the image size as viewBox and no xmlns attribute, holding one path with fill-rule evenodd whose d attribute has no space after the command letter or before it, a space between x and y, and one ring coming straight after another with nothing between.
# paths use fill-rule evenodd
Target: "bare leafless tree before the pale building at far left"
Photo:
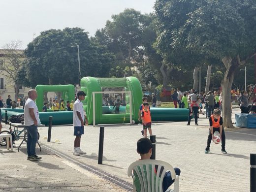
<instances>
[{"instance_id":1,"label":"bare leafless tree before the pale building at far left","mask_svg":"<svg viewBox=\"0 0 256 192\"><path fill-rule=\"evenodd\" d=\"M23 53L18 53L21 48L22 41L16 40L5 44L2 48L5 49L6 54L4 63L0 64L0 71L4 71L2 75L11 79L14 82L13 88L15 90L15 99L18 99L20 93L20 81L17 79L17 71L22 66Z\"/></svg>"}]
</instances>

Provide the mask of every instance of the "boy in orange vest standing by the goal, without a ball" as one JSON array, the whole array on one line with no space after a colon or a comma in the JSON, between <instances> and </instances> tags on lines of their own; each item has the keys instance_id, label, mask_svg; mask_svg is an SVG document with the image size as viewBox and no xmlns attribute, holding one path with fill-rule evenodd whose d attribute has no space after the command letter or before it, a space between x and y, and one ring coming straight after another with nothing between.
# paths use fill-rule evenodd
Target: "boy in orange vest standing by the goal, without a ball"
<instances>
[{"instance_id":1,"label":"boy in orange vest standing by the goal, without a ball","mask_svg":"<svg viewBox=\"0 0 256 192\"><path fill-rule=\"evenodd\" d=\"M151 113L149 110L149 103L143 103L144 109L141 112L141 120L143 123L144 137L147 137L147 129L149 129L149 134L152 135L151 130Z\"/></svg>"}]
</instances>

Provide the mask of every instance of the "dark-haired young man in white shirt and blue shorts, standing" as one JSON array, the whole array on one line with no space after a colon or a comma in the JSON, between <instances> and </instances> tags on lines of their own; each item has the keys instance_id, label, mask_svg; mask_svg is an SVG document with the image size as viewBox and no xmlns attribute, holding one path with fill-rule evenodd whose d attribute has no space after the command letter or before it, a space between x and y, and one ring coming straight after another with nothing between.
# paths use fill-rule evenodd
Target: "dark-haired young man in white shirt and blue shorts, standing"
<instances>
[{"instance_id":1,"label":"dark-haired young man in white shirt and blue shorts, standing","mask_svg":"<svg viewBox=\"0 0 256 192\"><path fill-rule=\"evenodd\" d=\"M79 91L77 93L77 100L74 103L73 108L73 125L74 125L74 153L73 155L79 156L82 154L86 154L86 152L83 152L80 149L80 142L81 142L81 136L84 134L84 121L86 121L86 124L88 124L86 113L83 109L83 103L82 100L85 99L85 93L83 91Z\"/></svg>"}]
</instances>

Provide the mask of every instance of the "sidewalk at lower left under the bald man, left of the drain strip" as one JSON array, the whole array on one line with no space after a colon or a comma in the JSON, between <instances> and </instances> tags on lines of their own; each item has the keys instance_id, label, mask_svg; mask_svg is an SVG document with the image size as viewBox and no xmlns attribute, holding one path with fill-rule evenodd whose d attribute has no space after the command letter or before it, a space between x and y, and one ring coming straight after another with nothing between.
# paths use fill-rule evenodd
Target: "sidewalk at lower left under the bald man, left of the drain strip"
<instances>
[{"instance_id":1,"label":"sidewalk at lower left under the bald man, left of the drain strip","mask_svg":"<svg viewBox=\"0 0 256 192\"><path fill-rule=\"evenodd\" d=\"M44 148L36 153L41 161L27 160L26 144L20 152L0 147L0 191L125 192Z\"/></svg>"}]
</instances>

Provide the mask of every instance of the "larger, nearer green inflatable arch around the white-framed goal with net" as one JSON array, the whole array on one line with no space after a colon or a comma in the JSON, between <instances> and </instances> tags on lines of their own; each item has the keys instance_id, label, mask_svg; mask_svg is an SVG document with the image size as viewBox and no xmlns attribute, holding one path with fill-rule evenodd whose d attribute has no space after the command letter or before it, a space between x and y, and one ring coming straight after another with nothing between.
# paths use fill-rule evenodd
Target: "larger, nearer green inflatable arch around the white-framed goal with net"
<instances>
[{"instance_id":1,"label":"larger, nearer green inflatable arch around the white-framed goal with net","mask_svg":"<svg viewBox=\"0 0 256 192\"><path fill-rule=\"evenodd\" d=\"M86 111L88 123L93 124L93 92L102 92L102 88L122 87L125 91L131 92L131 106L128 103L126 106L121 106L120 111L129 111L131 107L132 120L138 121L138 109L142 99L142 89L139 80L136 77L126 78L95 78L83 77L81 79L81 90L86 93L83 101L84 110ZM129 98L126 96L126 101ZM103 110L109 110L112 106L102 106L102 94L95 95L95 120L96 124L117 124L129 123L130 114L103 114Z\"/></svg>"}]
</instances>

